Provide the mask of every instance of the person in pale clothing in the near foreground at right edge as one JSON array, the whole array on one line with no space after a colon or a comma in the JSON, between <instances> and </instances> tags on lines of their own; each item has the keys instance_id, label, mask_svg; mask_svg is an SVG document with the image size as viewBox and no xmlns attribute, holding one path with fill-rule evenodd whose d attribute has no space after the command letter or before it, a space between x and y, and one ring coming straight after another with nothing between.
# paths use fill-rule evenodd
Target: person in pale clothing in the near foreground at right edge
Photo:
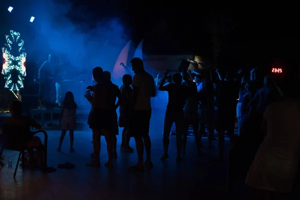
<instances>
[{"instance_id":1,"label":"person in pale clothing in the near foreground at right edge","mask_svg":"<svg viewBox=\"0 0 300 200\"><path fill-rule=\"evenodd\" d=\"M295 184L300 157L300 95L294 88L299 85L298 76L286 76L283 98L264 111L262 132L266 135L245 180L255 199L285 199Z\"/></svg>"}]
</instances>

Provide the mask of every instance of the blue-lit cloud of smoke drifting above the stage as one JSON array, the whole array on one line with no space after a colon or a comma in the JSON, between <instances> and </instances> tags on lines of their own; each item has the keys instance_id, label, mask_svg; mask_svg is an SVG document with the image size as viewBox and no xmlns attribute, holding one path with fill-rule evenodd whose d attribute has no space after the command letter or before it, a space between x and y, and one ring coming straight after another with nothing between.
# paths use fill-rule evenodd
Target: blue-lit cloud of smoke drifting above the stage
<instances>
[{"instance_id":1,"label":"blue-lit cloud of smoke drifting above the stage","mask_svg":"<svg viewBox=\"0 0 300 200\"><path fill-rule=\"evenodd\" d=\"M47 59L50 49L53 53L65 54L78 70L91 70L93 66L99 65L104 70L112 71L127 40L118 19L102 19L91 28L82 6L76 7L76 15L83 21L80 23L74 23L67 17L72 8L69 2L46 0L35 3L34 7L38 22L33 26L33 43L40 46L35 50L37 63ZM48 46L49 49L42 46Z\"/></svg>"}]
</instances>

